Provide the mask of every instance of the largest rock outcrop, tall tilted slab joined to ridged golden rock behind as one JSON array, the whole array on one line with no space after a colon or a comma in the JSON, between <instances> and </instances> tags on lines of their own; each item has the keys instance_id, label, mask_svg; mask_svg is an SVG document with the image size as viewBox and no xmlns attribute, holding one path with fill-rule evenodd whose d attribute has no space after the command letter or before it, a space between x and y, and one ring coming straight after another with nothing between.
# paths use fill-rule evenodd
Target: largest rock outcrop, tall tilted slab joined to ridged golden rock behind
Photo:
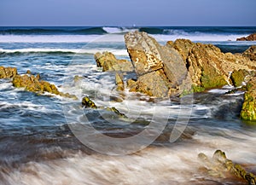
<instances>
[{"instance_id":1,"label":"largest rock outcrop, tall tilted slab joined to ridged golden rock behind","mask_svg":"<svg viewBox=\"0 0 256 185\"><path fill-rule=\"evenodd\" d=\"M125 44L137 73L137 80L130 81L128 88L157 97L222 87L236 81L230 80L235 70L256 70L245 54L224 54L212 44L187 39L162 46L145 32L129 32Z\"/></svg>"}]
</instances>

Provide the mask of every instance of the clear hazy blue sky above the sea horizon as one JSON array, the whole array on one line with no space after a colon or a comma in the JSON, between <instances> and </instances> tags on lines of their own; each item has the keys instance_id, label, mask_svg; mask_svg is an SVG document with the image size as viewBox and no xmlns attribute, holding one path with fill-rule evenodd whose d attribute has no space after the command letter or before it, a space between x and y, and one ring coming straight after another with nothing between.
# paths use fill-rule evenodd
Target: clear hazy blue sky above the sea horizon
<instances>
[{"instance_id":1,"label":"clear hazy blue sky above the sea horizon","mask_svg":"<svg viewBox=\"0 0 256 185\"><path fill-rule=\"evenodd\" d=\"M256 26L256 0L0 0L0 26Z\"/></svg>"}]
</instances>

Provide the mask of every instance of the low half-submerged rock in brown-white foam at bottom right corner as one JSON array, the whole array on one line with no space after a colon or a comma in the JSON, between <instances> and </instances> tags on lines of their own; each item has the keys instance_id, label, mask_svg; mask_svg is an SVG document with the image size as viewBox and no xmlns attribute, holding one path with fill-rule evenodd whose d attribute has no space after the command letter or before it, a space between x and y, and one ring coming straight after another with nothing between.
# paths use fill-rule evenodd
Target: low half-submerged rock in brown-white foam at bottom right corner
<instances>
[{"instance_id":1,"label":"low half-submerged rock in brown-white foam at bottom right corner","mask_svg":"<svg viewBox=\"0 0 256 185\"><path fill-rule=\"evenodd\" d=\"M221 150L217 150L213 154L212 159L209 159L204 153L199 153L198 159L201 160L202 165L204 165L211 176L224 177L225 173L230 173L245 180L249 185L256 184L256 176L253 173L245 171L241 165L234 164L232 160L227 159L225 153Z\"/></svg>"}]
</instances>

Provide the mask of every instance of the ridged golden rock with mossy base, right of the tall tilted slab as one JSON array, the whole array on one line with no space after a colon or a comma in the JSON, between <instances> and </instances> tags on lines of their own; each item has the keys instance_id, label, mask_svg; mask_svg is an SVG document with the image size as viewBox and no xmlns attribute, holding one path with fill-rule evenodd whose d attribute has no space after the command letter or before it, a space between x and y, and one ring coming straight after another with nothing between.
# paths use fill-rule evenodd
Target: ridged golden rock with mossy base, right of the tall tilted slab
<instances>
[{"instance_id":1,"label":"ridged golden rock with mossy base, right of the tall tilted slab","mask_svg":"<svg viewBox=\"0 0 256 185\"><path fill-rule=\"evenodd\" d=\"M187 39L177 39L167 43L183 56L194 87L216 88L230 83L230 72L236 69L255 70L253 61L243 55L222 53L212 44L192 43Z\"/></svg>"}]
</instances>

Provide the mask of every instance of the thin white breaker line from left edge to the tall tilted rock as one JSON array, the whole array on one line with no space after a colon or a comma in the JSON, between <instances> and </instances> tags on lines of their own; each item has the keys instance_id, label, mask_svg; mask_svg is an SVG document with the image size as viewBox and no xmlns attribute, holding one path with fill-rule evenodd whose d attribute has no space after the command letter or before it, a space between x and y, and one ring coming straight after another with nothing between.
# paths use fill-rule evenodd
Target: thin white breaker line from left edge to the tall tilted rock
<instances>
[{"instance_id":1,"label":"thin white breaker line from left edge to the tall tilted rock","mask_svg":"<svg viewBox=\"0 0 256 185\"><path fill-rule=\"evenodd\" d=\"M1 55L23 55L29 53L41 54L87 54L94 55L96 52L110 51L114 55L128 55L126 49L0 49Z\"/></svg>"}]
</instances>

